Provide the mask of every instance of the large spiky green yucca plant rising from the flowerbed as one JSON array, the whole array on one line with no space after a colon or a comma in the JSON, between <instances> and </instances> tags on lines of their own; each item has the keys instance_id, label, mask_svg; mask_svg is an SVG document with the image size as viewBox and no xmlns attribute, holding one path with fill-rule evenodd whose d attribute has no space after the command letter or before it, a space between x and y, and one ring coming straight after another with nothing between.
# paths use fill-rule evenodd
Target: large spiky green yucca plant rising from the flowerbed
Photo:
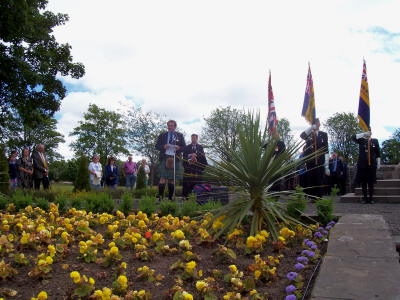
<instances>
[{"instance_id":1,"label":"large spiky green yucca plant rising from the flowerbed","mask_svg":"<svg viewBox=\"0 0 400 300\"><path fill-rule=\"evenodd\" d=\"M288 146L279 155L274 154L277 138L270 137L261 128L260 114L249 113L238 128L239 147L228 150L227 158L213 160L205 170L205 176L219 184L235 186L240 197L214 210L214 218L225 216L217 237L240 226L245 218L250 221L250 234L267 229L274 239L279 236L279 223L296 224L289 216L286 205L276 201L280 194L296 191L272 192L271 187L280 180L294 176L296 169L313 156L295 159L303 142Z\"/></svg>"}]
</instances>

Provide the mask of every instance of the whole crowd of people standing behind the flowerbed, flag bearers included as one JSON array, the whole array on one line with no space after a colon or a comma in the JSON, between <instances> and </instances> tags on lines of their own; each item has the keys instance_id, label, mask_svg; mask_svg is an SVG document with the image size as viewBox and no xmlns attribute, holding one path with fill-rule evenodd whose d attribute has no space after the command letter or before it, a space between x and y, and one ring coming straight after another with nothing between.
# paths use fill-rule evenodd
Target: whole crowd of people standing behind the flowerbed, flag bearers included
<instances>
[{"instance_id":1,"label":"whole crowd of people standing behind the flowerbed, flag bearers included","mask_svg":"<svg viewBox=\"0 0 400 300\"><path fill-rule=\"evenodd\" d=\"M159 175L158 198L162 200L166 187L168 199L175 197L175 184L182 181L182 196L187 198L196 184L203 183L202 175L207 166L207 159L203 146L198 143L198 135L191 135L191 142L186 145L182 133L176 131L177 123L174 120L167 122L167 131L161 133L156 141L155 148L159 151ZM346 192L347 163L336 152L329 155L329 143L327 133L321 131L319 119L315 119L312 126L301 133L300 137L305 141L305 146L300 157L312 157L308 159L298 171L299 185L312 197L322 197L330 192L331 188L339 188L340 194ZM274 155L279 155L285 150L285 144L276 135L277 145ZM356 184L362 186L363 201L373 203L374 183L376 170L380 168L380 148L377 139L371 138L371 131L357 134L353 141L359 145L359 158L357 163ZM22 150L18 158L18 152L12 151L9 157L10 187L23 189L49 188L49 168L45 155L45 146L39 144L30 154L28 148ZM125 177L125 185L133 189L137 180L139 168L145 173L145 184L148 184L150 168L146 160L136 163L129 156L122 164L121 170L114 157L107 159L106 166L101 165L100 156L94 154L88 166L89 182L92 190L102 187L115 189L119 184L119 178ZM279 185L272 188L279 190ZM328 188L327 188L328 187Z\"/></svg>"}]
</instances>

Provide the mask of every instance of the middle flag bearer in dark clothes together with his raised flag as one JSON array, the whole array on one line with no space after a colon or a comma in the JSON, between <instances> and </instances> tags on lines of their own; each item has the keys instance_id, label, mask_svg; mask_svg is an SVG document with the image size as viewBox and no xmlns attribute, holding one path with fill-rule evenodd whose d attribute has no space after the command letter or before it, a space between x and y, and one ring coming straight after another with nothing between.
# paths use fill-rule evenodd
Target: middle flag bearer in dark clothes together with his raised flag
<instances>
[{"instance_id":1,"label":"middle flag bearer in dark clothes together with his raised flag","mask_svg":"<svg viewBox=\"0 0 400 300\"><path fill-rule=\"evenodd\" d=\"M328 135L319 130L320 122L315 113L314 86L310 64L308 65L307 85L301 115L311 124L311 127L300 135L306 143L304 155L320 152L315 158L306 162L306 192L315 197L322 197L324 173L329 176Z\"/></svg>"}]
</instances>

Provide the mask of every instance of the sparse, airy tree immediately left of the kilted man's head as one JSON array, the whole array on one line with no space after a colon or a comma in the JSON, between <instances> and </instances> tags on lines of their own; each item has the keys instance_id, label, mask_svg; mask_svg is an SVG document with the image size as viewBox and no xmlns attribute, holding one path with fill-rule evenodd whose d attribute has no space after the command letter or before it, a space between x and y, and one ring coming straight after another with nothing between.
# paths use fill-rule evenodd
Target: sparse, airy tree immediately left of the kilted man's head
<instances>
[{"instance_id":1,"label":"sparse, airy tree immediately left of the kilted man's head","mask_svg":"<svg viewBox=\"0 0 400 300\"><path fill-rule=\"evenodd\" d=\"M154 182L159 155L155 145L157 137L166 130L167 120L159 114L143 112L140 107L132 107L125 116L125 122L131 150L148 159L151 168L150 182Z\"/></svg>"}]
</instances>

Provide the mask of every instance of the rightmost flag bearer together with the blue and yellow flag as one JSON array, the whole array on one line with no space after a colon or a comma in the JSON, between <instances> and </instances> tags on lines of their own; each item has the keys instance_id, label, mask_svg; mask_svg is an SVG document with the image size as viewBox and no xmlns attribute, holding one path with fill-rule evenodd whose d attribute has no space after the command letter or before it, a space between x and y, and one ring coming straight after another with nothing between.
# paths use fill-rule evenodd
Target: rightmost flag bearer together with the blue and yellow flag
<instances>
[{"instance_id":1,"label":"rightmost flag bearer together with the blue and yellow flag","mask_svg":"<svg viewBox=\"0 0 400 300\"><path fill-rule=\"evenodd\" d=\"M364 60L358 103L358 121L365 132L353 136L353 141L358 144L359 150L356 182L361 184L364 203L374 203L376 170L381 166L379 142L377 139L371 138L369 107L367 66Z\"/></svg>"}]
</instances>

